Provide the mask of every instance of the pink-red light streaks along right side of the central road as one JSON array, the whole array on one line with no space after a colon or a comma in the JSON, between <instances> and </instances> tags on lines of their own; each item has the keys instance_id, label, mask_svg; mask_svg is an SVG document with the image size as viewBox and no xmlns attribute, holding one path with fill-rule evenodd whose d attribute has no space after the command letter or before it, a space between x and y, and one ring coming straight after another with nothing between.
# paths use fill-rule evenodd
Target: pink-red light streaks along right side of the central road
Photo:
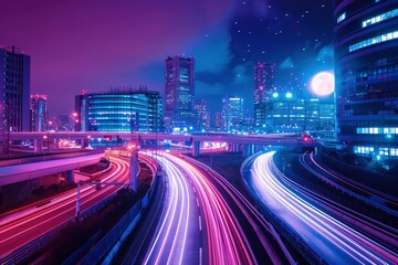
<instances>
[{"instance_id":1,"label":"pink-red light streaks along right side of the central road","mask_svg":"<svg viewBox=\"0 0 398 265\"><path fill-rule=\"evenodd\" d=\"M254 264L248 239L217 188L185 159L171 155L165 157L187 172L199 195L206 220L208 264Z\"/></svg>"}]
</instances>

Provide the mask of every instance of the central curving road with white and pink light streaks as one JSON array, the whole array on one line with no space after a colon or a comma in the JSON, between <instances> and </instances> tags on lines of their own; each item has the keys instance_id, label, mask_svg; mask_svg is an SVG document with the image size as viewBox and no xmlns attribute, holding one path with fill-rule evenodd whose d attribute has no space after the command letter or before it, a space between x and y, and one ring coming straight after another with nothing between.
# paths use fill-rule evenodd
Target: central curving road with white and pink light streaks
<instances>
[{"instance_id":1,"label":"central curving road with white and pink light streaks","mask_svg":"<svg viewBox=\"0 0 398 265\"><path fill-rule=\"evenodd\" d=\"M135 252L143 244L133 243L123 264L294 263L272 225L221 176L184 156L156 158L166 181L164 206L156 229L137 235L148 241L142 257Z\"/></svg>"}]
</instances>

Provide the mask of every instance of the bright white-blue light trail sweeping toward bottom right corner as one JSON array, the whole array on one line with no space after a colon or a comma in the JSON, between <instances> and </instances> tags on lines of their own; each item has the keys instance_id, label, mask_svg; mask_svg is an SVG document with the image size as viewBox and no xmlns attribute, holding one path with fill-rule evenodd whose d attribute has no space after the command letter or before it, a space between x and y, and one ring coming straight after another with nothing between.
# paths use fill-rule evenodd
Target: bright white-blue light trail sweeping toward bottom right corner
<instances>
[{"instance_id":1,"label":"bright white-blue light trail sweeping toward bottom right corner","mask_svg":"<svg viewBox=\"0 0 398 265\"><path fill-rule=\"evenodd\" d=\"M274 152L259 156L251 181L259 199L325 261L334 264L397 264L394 253L303 200L273 170Z\"/></svg>"}]
</instances>

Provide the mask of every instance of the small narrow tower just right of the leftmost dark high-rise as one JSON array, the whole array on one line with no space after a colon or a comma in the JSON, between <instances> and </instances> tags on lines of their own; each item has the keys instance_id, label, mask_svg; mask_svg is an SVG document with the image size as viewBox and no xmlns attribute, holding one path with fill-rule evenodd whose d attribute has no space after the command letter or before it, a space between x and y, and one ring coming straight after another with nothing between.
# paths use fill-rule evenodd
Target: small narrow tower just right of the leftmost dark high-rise
<instances>
[{"instance_id":1,"label":"small narrow tower just right of the leftmost dark high-rise","mask_svg":"<svg viewBox=\"0 0 398 265\"><path fill-rule=\"evenodd\" d=\"M31 131L49 129L45 95L31 95Z\"/></svg>"}]
</instances>

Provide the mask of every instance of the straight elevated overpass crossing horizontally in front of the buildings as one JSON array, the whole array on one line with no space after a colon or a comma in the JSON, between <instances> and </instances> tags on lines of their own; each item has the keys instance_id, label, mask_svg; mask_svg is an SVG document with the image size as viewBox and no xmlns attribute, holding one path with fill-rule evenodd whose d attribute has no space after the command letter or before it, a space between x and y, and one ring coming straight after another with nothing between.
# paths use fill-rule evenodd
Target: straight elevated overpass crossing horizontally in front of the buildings
<instances>
[{"instance_id":1,"label":"straight elevated overpass crossing horizontally in front of the buildings","mask_svg":"<svg viewBox=\"0 0 398 265\"><path fill-rule=\"evenodd\" d=\"M0 140L2 136L0 136ZM298 148L314 148L317 141L314 139L302 139L289 135L230 135L230 134L147 134L147 132L128 132L128 131L21 131L10 132L10 140L32 140L34 149L41 151L43 145L52 142L56 146L60 139L71 139L81 142L82 147L87 146L92 139L119 139L121 142L130 139L144 141L190 141L192 144L192 155L198 156L200 152L200 142L203 141L222 141L228 142L230 150L242 151L243 156L250 156L255 151L255 146L289 146ZM49 144L48 144L49 145Z\"/></svg>"}]
</instances>

